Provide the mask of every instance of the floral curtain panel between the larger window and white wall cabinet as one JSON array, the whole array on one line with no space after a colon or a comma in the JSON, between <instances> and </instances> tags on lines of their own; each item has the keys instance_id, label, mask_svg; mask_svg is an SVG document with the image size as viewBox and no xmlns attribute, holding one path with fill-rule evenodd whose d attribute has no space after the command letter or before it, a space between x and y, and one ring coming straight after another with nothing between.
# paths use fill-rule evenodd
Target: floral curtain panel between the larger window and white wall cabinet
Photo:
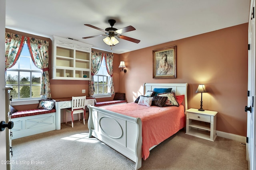
<instances>
[{"instance_id":1,"label":"floral curtain panel between the larger window and white wall cabinet","mask_svg":"<svg viewBox=\"0 0 256 170\"><path fill-rule=\"evenodd\" d=\"M50 78L48 72L49 42L28 37L27 43L32 61L37 68L43 70L40 95L46 96L46 98L51 98Z\"/></svg>"}]
</instances>

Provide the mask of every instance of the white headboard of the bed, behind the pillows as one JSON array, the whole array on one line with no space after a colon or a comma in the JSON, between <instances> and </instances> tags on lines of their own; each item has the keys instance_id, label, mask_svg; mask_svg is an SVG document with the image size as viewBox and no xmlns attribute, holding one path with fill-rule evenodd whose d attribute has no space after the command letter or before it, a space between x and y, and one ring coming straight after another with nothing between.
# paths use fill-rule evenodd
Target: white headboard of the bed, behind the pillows
<instances>
[{"instance_id":1,"label":"white headboard of the bed, behind the pillows","mask_svg":"<svg viewBox=\"0 0 256 170\"><path fill-rule=\"evenodd\" d=\"M188 83L145 83L144 94L154 88L172 88L172 92L175 92L176 95L184 95L184 108L188 109Z\"/></svg>"}]
</instances>

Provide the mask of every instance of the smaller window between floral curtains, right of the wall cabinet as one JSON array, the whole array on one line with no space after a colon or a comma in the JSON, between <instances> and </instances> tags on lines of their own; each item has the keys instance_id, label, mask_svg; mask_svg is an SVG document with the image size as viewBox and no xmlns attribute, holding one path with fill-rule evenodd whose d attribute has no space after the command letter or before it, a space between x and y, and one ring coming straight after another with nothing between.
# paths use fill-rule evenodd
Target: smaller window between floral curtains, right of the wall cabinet
<instances>
[{"instance_id":1,"label":"smaller window between floral curtains, right of the wall cabinet","mask_svg":"<svg viewBox=\"0 0 256 170\"><path fill-rule=\"evenodd\" d=\"M107 72L105 57L103 57L100 70L98 74L93 76L94 79L94 88L95 92L94 95L107 95L109 82L110 82L110 75Z\"/></svg>"}]
</instances>

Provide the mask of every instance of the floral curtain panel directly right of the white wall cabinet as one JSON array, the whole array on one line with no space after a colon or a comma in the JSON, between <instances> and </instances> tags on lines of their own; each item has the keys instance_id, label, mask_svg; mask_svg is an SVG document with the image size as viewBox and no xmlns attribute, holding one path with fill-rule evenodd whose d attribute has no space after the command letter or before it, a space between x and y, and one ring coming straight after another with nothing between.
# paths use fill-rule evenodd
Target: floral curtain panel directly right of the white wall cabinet
<instances>
[{"instance_id":1,"label":"floral curtain panel directly right of the white wall cabinet","mask_svg":"<svg viewBox=\"0 0 256 170\"><path fill-rule=\"evenodd\" d=\"M92 51L92 80L89 81L89 96L92 96L95 92L93 76L100 70L102 57L103 53Z\"/></svg>"}]
</instances>

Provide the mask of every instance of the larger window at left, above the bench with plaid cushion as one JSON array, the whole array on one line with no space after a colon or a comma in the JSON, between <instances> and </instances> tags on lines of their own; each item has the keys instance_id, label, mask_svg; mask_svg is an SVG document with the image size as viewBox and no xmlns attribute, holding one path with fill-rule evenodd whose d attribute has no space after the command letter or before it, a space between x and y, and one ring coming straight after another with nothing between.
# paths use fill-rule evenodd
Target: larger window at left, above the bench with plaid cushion
<instances>
[{"instance_id":1,"label":"larger window at left, above the bench with plaid cushion","mask_svg":"<svg viewBox=\"0 0 256 170\"><path fill-rule=\"evenodd\" d=\"M27 43L21 51L20 57L14 66L6 70L6 85L12 86L12 99L31 100L39 99L41 90L42 70L33 63Z\"/></svg>"}]
</instances>

